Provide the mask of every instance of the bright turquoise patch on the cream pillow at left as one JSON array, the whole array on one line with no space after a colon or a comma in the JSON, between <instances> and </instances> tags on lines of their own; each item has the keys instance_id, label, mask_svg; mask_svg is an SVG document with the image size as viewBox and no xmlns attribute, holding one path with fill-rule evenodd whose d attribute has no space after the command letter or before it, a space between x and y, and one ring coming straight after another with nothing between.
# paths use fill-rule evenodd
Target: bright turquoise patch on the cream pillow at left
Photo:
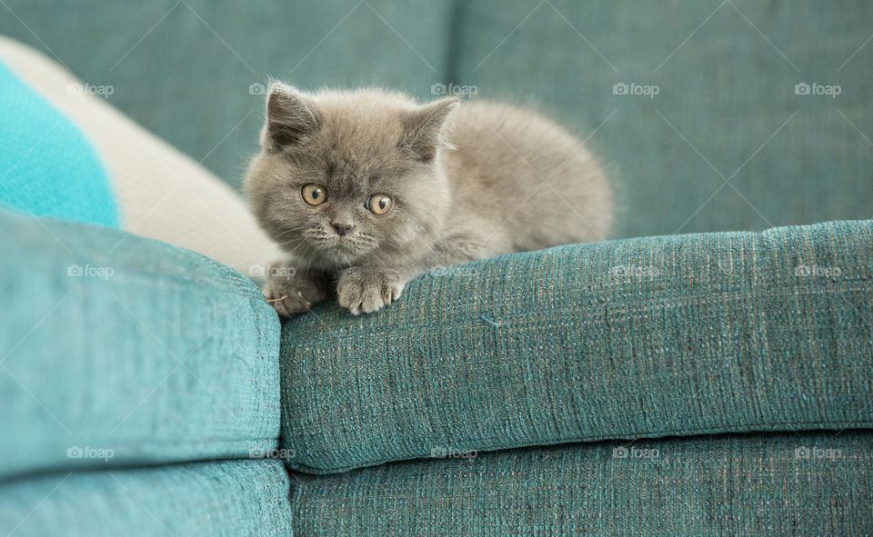
<instances>
[{"instance_id":1,"label":"bright turquoise patch on the cream pillow at left","mask_svg":"<svg viewBox=\"0 0 873 537\"><path fill-rule=\"evenodd\" d=\"M35 216L119 224L115 195L94 148L2 64L0 204Z\"/></svg>"}]
</instances>

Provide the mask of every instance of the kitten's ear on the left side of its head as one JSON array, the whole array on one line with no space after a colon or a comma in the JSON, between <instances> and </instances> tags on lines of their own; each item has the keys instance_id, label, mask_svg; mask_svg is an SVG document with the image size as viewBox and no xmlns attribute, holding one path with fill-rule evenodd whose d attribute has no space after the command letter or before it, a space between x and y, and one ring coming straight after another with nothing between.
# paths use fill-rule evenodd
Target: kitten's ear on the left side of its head
<instances>
[{"instance_id":1,"label":"kitten's ear on the left side of its head","mask_svg":"<svg viewBox=\"0 0 873 537\"><path fill-rule=\"evenodd\" d=\"M266 99L264 146L274 152L300 144L318 130L315 107L290 85L273 83Z\"/></svg>"}]
</instances>

